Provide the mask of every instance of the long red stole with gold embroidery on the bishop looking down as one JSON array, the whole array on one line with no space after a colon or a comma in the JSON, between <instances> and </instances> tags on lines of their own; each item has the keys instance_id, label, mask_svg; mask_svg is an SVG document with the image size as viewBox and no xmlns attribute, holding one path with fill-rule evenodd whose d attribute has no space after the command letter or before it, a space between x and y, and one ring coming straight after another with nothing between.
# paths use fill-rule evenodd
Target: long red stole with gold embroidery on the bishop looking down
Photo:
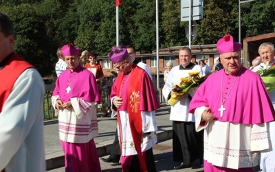
<instances>
[{"instance_id":1,"label":"long red stole with gold embroidery on the bishop looking down","mask_svg":"<svg viewBox=\"0 0 275 172\"><path fill-rule=\"evenodd\" d=\"M141 94L142 88L142 73L144 69L141 69L133 64L131 69L131 78L129 78L129 89L128 89L128 107L127 111L129 114L129 122L131 133L133 136L133 142L135 144L135 151L137 151L138 160L140 161L141 171L147 171L146 163L142 157L141 141L142 141L142 117L140 116L140 96L136 97L135 93ZM118 75L117 78L117 90L120 93L120 85L122 83L122 78L124 75ZM119 109L118 109L119 111ZM118 113L118 123L120 124L120 114ZM120 126L120 125L119 125ZM120 133L121 129L120 129ZM120 139L121 147L121 139Z\"/></svg>"}]
</instances>

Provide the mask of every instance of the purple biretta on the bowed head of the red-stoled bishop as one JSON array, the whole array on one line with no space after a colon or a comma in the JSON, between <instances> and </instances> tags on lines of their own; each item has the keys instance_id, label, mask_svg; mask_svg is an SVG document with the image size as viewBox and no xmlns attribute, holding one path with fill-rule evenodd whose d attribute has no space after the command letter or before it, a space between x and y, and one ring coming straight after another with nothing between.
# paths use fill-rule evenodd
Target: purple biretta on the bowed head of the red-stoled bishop
<instances>
[{"instance_id":1,"label":"purple biretta on the bowed head of the red-stoled bishop","mask_svg":"<svg viewBox=\"0 0 275 172\"><path fill-rule=\"evenodd\" d=\"M124 45L113 47L109 54L109 58L113 63L118 63L128 57L127 47Z\"/></svg>"}]
</instances>

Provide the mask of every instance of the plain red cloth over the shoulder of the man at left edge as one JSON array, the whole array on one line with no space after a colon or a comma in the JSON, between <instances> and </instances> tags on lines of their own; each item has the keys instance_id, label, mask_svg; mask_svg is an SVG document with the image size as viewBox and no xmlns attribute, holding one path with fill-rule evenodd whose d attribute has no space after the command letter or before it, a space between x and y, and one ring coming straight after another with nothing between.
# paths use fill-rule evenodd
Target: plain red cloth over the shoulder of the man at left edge
<instances>
[{"instance_id":1,"label":"plain red cloth over the shoulder of the man at left edge","mask_svg":"<svg viewBox=\"0 0 275 172\"><path fill-rule=\"evenodd\" d=\"M28 68L34 67L17 54L12 53L8 62L5 63L0 70L0 78L2 80L0 87L0 112L2 111L5 100L10 95L10 92L12 92L15 81L17 81L17 78Z\"/></svg>"}]
</instances>

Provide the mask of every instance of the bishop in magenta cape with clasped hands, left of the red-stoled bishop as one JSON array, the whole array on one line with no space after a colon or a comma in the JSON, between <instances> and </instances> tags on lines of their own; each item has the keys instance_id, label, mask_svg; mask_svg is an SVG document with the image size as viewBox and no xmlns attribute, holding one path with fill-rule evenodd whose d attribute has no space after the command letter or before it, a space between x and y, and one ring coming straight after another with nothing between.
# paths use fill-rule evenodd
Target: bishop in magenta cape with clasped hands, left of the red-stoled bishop
<instances>
[{"instance_id":1,"label":"bishop in magenta cape with clasped hands, left of the red-stoled bishop","mask_svg":"<svg viewBox=\"0 0 275 172\"><path fill-rule=\"evenodd\" d=\"M100 100L94 74L79 64L79 49L62 47L68 69L56 80L52 105L58 113L59 138L66 171L100 171L94 137L98 136L95 103Z\"/></svg>"}]
</instances>

